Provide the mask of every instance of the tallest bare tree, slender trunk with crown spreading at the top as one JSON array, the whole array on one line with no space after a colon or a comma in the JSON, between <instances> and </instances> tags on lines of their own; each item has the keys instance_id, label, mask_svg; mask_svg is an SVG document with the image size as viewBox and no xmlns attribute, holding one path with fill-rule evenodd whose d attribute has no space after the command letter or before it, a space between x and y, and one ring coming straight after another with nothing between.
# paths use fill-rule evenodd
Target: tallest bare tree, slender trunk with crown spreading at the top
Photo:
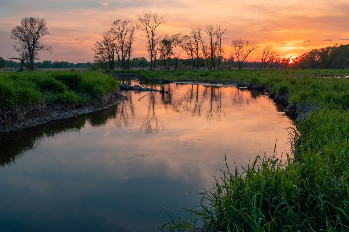
<instances>
[{"instance_id":1,"label":"tallest bare tree, slender trunk with crown spreading at the top","mask_svg":"<svg viewBox=\"0 0 349 232\"><path fill-rule=\"evenodd\" d=\"M137 24L137 28L145 31L147 33L147 47L149 51L150 56L150 70L153 66L153 56L154 56L154 50L156 47L156 41L155 41L155 30L156 28L165 22L165 16L161 15L159 16L157 13L144 13L141 15L138 15L138 20L140 21L139 24Z\"/></svg>"}]
</instances>

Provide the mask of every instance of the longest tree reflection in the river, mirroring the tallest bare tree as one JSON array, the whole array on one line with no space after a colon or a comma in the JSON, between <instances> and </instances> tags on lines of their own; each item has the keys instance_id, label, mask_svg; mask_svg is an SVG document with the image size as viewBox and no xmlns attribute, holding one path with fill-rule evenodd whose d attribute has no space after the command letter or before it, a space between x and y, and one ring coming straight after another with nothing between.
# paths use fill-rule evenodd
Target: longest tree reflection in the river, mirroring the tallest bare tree
<instances>
[{"instance_id":1,"label":"longest tree reflection in the river, mirroring the tallest bare tree","mask_svg":"<svg viewBox=\"0 0 349 232\"><path fill-rule=\"evenodd\" d=\"M147 134L149 133L157 133L159 131L159 124L161 127L162 124L159 123L159 120L156 117L156 112L155 112L155 96L156 93L150 93L149 94L149 108L148 108L148 113L147 113L147 118L144 120L141 130L145 130Z\"/></svg>"}]
</instances>

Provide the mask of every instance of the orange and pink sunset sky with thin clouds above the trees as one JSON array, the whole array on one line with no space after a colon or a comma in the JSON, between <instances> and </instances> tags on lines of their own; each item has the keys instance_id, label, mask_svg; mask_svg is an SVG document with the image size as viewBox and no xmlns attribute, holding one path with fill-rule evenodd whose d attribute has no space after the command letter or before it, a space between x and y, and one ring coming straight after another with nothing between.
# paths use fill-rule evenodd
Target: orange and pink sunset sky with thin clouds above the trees
<instances>
[{"instance_id":1,"label":"orange and pink sunset sky with thin clouds above the trees","mask_svg":"<svg viewBox=\"0 0 349 232\"><path fill-rule=\"evenodd\" d=\"M165 16L157 35L188 34L192 28L204 29L205 24L223 24L227 57L231 40L257 40L259 49L249 61L260 55L265 44L281 57L296 57L311 49L349 43L348 0L1 0L0 56L16 55L11 28L24 17L39 17L50 31L43 41L54 48L52 54L41 52L39 61L93 62L91 47L113 21L138 23L137 15L146 12ZM135 34L133 57L148 58L145 32ZM187 58L180 49L177 54Z\"/></svg>"}]
</instances>

